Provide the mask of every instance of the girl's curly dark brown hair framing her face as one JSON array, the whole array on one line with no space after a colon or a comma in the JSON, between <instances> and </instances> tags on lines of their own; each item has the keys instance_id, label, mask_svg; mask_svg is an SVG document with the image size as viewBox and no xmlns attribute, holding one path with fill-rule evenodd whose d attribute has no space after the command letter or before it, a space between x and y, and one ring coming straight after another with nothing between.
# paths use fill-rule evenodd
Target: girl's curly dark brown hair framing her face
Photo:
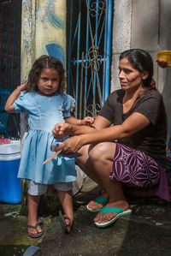
<instances>
[{"instance_id":1,"label":"girl's curly dark brown hair framing her face","mask_svg":"<svg viewBox=\"0 0 171 256\"><path fill-rule=\"evenodd\" d=\"M62 62L56 59L56 57L47 55L42 55L33 63L32 69L28 74L27 92L38 91L38 79L44 68L54 68L58 71L60 83L57 92L62 93L65 86L65 69Z\"/></svg>"}]
</instances>

